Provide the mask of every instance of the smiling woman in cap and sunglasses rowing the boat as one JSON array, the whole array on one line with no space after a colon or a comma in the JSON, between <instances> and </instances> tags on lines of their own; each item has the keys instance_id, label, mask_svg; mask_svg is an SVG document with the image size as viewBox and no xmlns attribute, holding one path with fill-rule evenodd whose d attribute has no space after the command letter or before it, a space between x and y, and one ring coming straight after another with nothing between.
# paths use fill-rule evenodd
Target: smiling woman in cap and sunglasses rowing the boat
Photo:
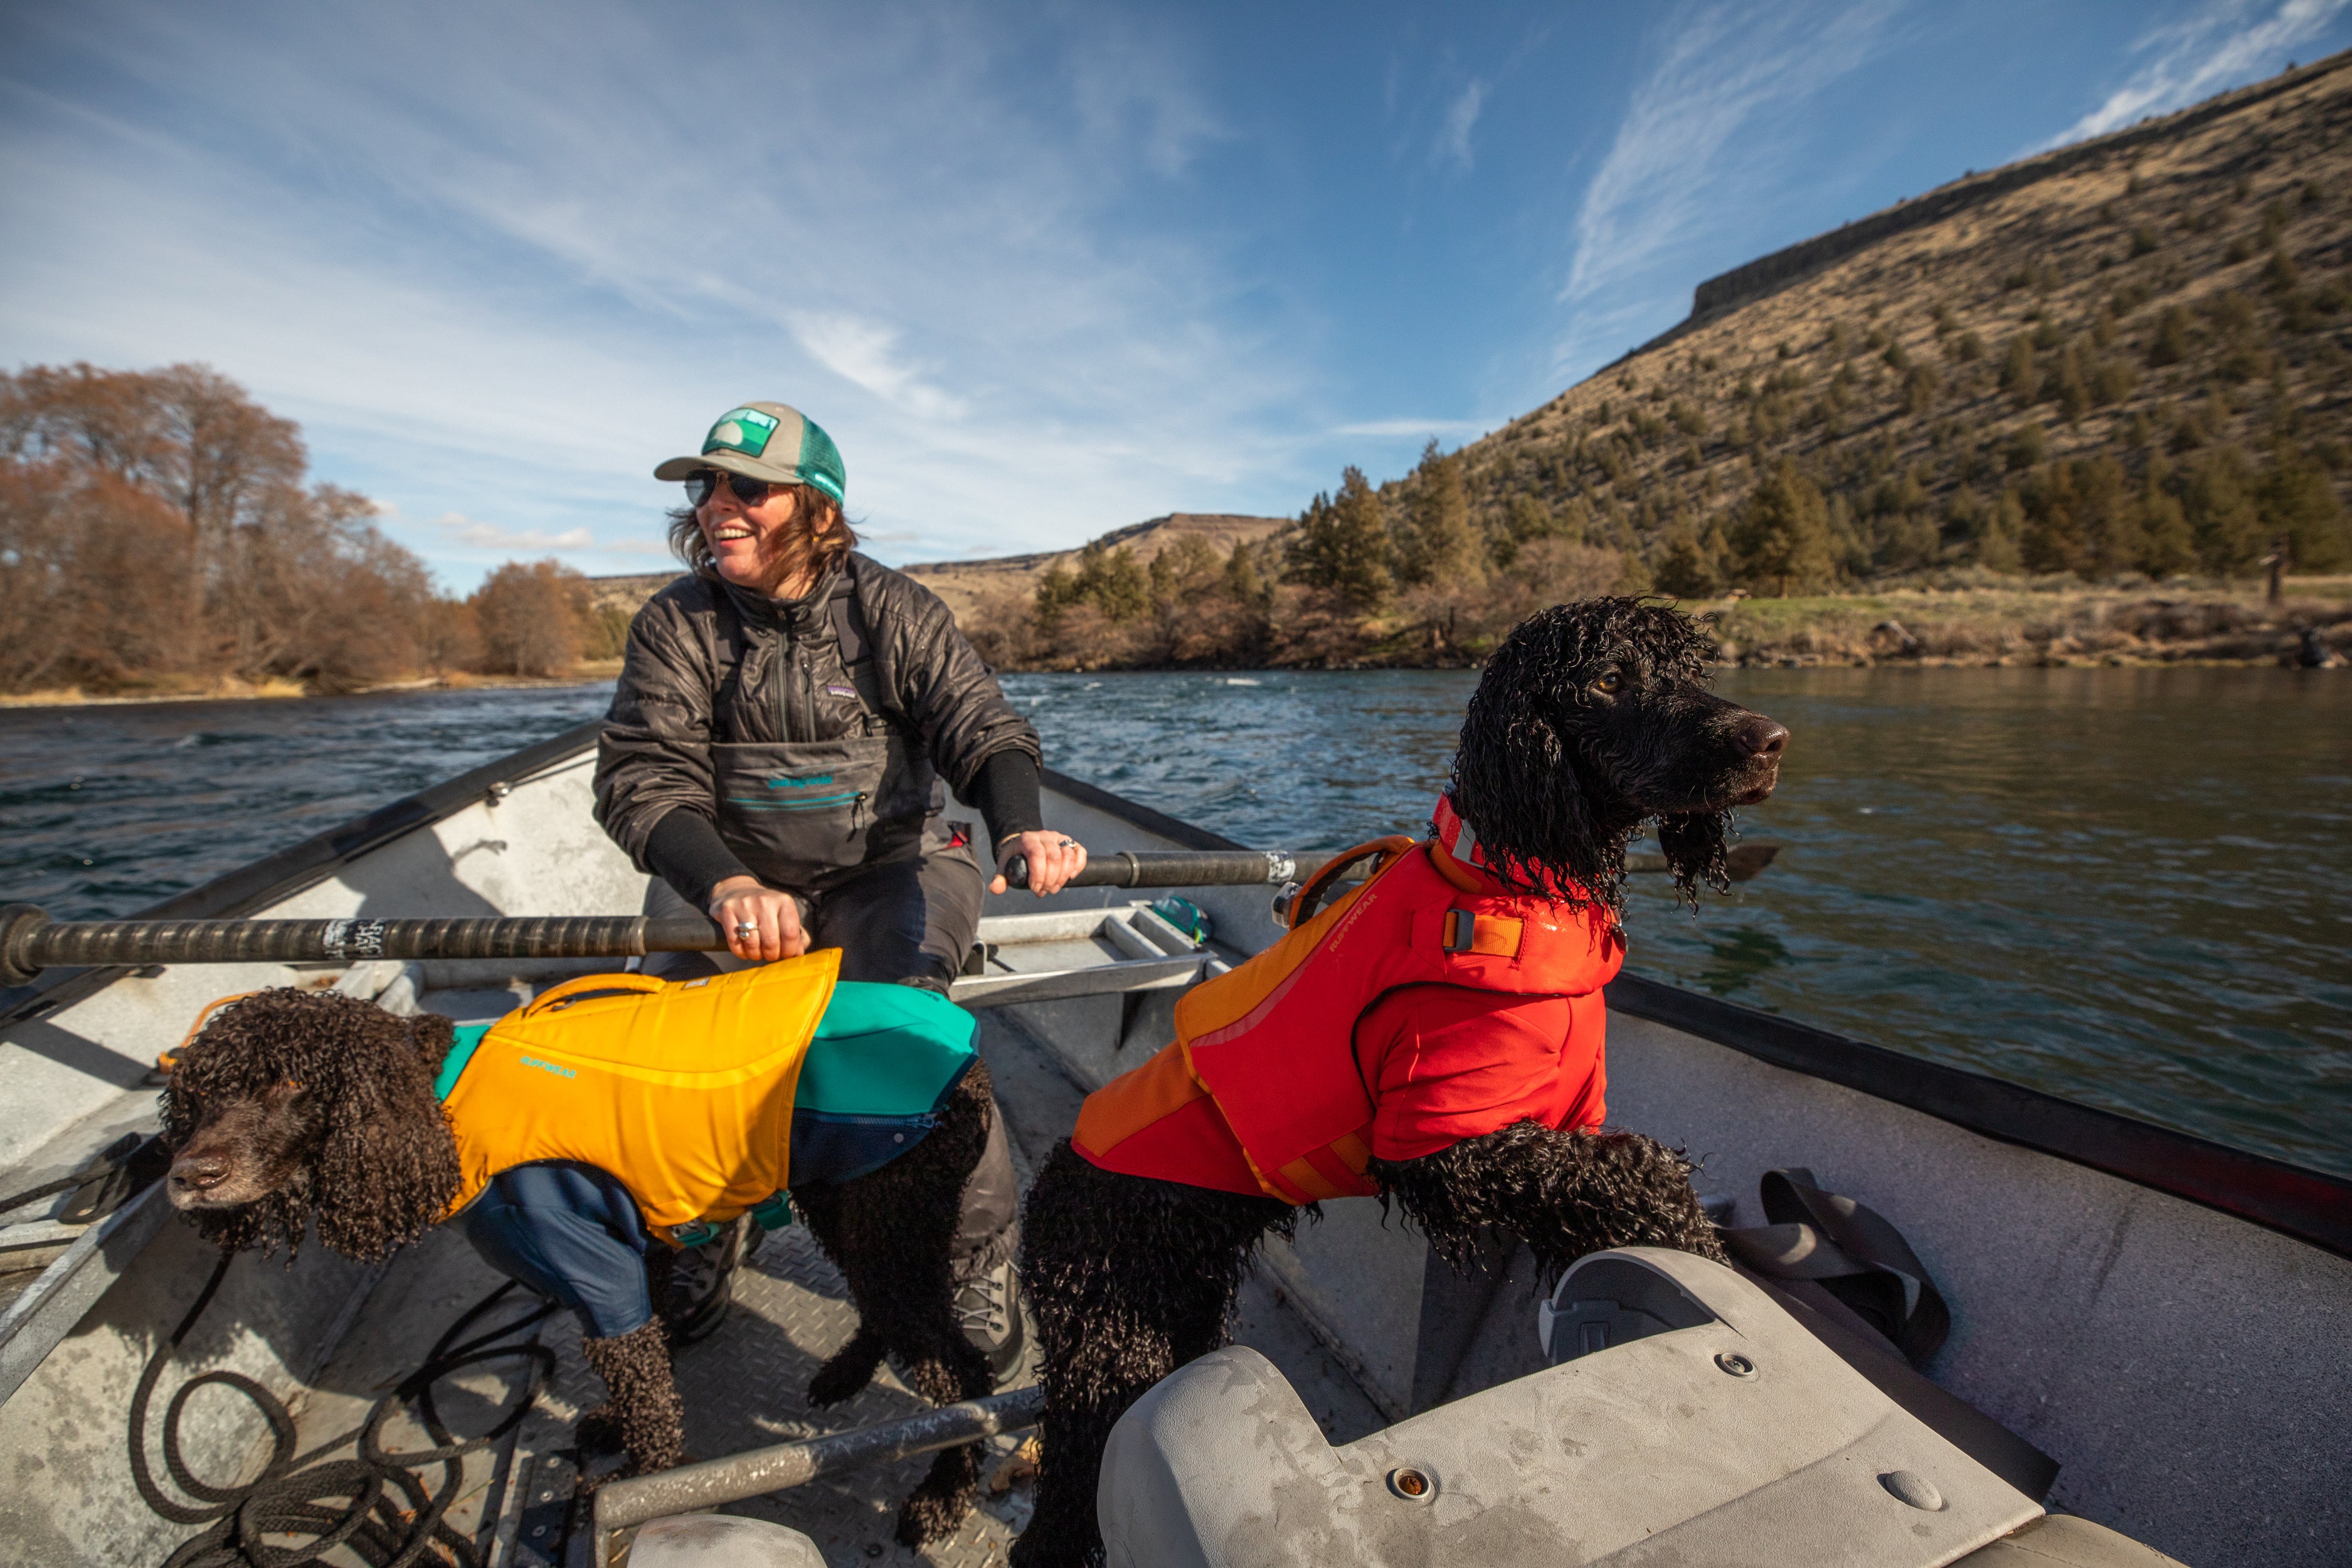
<instances>
[{"instance_id":1,"label":"smiling woman in cap and sunglasses rowing the boat","mask_svg":"<svg viewBox=\"0 0 2352 1568\"><path fill-rule=\"evenodd\" d=\"M948 785L988 818L1002 865L1025 856L1054 893L1087 851L1044 832L1042 750L927 588L851 545L849 475L823 425L781 402L739 404L682 480L670 543L691 567L654 595L597 748L597 820L654 875L647 914L706 910L724 954L663 954L668 980L842 952L842 980L946 994L981 922L985 872ZM990 1107L988 1147L941 1237L967 1338L1004 1375L1021 1356L1014 1171ZM717 1324L736 1239L691 1248L677 1314ZM964 1389L967 1394L985 1387Z\"/></svg>"}]
</instances>

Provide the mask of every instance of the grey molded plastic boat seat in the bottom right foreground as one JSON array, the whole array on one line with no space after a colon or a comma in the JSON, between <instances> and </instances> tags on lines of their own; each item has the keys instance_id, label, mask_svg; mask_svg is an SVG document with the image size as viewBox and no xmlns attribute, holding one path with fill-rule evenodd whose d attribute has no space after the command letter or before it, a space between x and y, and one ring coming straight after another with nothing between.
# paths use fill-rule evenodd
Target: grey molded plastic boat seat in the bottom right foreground
<instances>
[{"instance_id":1,"label":"grey molded plastic boat seat in the bottom right foreground","mask_svg":"<svg viewBox=\"0 0 2352 1568\"><path fill-rule=\"evenodd\" d=\"M1592 1253L1559 1302L1585 1354L1338 1448L1256 1352L1190 1361L1103 1448L1108 1559L1931 1568L2042 1516L1717 1262Z\"/></svg>"}]
</instances>

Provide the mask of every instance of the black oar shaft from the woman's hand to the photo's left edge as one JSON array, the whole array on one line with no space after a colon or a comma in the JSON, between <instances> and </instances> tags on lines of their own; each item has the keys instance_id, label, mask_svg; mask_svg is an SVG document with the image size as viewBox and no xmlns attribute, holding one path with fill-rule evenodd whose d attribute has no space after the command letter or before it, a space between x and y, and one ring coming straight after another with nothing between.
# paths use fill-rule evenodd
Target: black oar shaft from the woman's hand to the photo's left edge
<instances>
[{"instance_id":1,"label":"black oar shaft from the woman's hand to the photo's left edge","mask_svg":"<svg viewBox=\"0 0 2352 1568\"><path fill-rule=\"evenodd\" d=\"M0 985L49 966L334 964L367 959L630 959L717 952L701 917L524 914L494 919L49 919L0 907Z\"/></svg>"}]
</instances>

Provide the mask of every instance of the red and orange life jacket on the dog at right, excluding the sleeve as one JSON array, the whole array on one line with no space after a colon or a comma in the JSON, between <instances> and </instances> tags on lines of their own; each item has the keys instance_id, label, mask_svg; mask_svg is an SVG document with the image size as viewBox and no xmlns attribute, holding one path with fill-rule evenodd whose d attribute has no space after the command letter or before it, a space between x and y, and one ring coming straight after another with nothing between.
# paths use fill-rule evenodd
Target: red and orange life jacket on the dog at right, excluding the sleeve
<instances>
[{"instance_id":1,"label":"red and orange life jacket on the dog at right, excluding the sleeve","mask_svg":"<svg viewBox=\"0 0 2352 1568\"><path fill-rule=\"evenodd\" d=\"M1364 846L1383 856L1371 882L1192 987L1176 1004L1176 1041L1087 1095L1073 1150L1105 1171L1287 1204L1371 1197L1378 1072L1359 1063L1355 1030L1406 985L1566 997L1571 1034L1590 1051L1562 1051L1562 1063L1590 1072L1602 1051L1599 992L1625 957L1609 910L1496 891L1449 799L1435 825L1425 844ZM1461 1135L1541 1117L1552 1088L1531 1086L1524 1103L1491 1107L1482 1117L1491 1126Z\"/></svg>"}]
</instances>

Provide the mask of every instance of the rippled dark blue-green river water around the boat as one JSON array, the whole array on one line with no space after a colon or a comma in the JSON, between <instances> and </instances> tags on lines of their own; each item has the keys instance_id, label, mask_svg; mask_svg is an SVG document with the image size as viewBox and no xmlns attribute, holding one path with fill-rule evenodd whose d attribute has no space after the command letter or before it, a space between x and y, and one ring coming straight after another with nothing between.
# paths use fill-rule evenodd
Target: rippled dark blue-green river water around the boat
<instances>
[{"instance_id":1,"label":"rippled dark blue-green river water around the boat","mask_svg":"<svg viewBox=\"0 0 2352 1568\"><path fill-rule=\"evenodd\" d=\"M1051 766L1244 844L1411 832L1468 672L1016 675ZM2352 1175L2352 679L1731 670L1778 863L1630 966ZM607 689L0 710L0 900L125 914L597 717Z\"/></svg>"}]
</instances>

